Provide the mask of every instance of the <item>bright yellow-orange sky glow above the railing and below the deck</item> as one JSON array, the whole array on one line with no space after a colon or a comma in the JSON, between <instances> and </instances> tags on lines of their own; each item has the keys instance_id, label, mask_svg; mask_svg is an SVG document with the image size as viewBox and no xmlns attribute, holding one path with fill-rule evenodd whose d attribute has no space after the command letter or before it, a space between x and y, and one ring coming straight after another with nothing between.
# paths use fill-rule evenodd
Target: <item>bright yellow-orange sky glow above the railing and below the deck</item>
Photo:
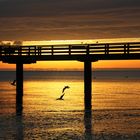
<instances>
[{"instance_id":1,"label":"bright yellow-orange sky glow above the railing and below the deck","mask_svg":"<svg viewBox=\"0 0 140 140\"><path fill-rule=\"evenodd\" d=\"M60 45L60 44L92 44L92 43L140 42L140 38L90 39L90 40L49 40L23 41L23 45ZM6 41L7 42L7 41ZM83 70L83 63L78 61L38 61L25 64L25 70ZM106 60L92 63L96 69L104 68L140 68L140 60ZM0 62L0 69L15 69L14 64Z\"/></svg>"}]
</instances>

